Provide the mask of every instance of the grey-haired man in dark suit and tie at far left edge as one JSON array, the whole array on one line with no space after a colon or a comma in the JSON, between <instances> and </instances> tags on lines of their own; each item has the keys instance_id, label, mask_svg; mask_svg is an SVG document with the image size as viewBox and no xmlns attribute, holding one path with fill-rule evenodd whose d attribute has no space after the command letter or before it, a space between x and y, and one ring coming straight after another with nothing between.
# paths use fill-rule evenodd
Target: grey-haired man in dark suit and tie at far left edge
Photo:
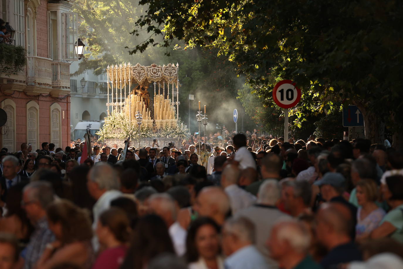
<instances>
[{"instance_id":1,"label":"grey-haired man in dark suit and tie at far left edge","mask_svg":"<svg viewBox=\"0 0 403 269\"><path fill-rule=\"evenodd\" d=\"M12 186L20 183L29 183L29 179L18 174L20 169L18 159L13 155L5 156L3 161L3 176L0 177L0 184L4 189L4 194L1 196L2 200L6 200L7 191Z\"/></svg>"}]
</instances>

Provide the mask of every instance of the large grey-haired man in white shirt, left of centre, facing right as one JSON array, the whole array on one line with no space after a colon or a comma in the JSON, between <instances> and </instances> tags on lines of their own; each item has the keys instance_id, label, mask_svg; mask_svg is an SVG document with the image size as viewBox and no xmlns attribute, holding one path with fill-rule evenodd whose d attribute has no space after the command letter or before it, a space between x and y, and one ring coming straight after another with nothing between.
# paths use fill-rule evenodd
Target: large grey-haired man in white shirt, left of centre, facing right
<instances>
[{"instance_id":1,"label":"large grey-haired man in white shirt, left of centre, facing right","mask_svg":"<svg viewBox=\"0 0 403 269\"><path fill-rule=\"evenodd\" d=\"M98 146L99 148L99 146ZM97 228L98 218L103 211L110 208L110 202L122 196L119 191L120 183L116 172L108 164L99 164L91 168L87 175L87 188L89 194L97 200L92 208L94 234ZM95 251L99 248L98 238L93 237L92 245Z\"/></svg>"}]
</instances>

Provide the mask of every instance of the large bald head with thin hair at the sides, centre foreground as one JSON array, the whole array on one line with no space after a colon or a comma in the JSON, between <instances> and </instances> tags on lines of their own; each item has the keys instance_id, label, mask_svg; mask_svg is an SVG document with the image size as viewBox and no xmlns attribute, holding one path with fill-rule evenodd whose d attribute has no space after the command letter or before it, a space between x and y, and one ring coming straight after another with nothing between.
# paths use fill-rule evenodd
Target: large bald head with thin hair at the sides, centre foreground
<instances>
[{"instance_id":1,"label":"large bald head with thin hair at the sides, centre foreground","mask_svg":"<svg viewBox=\"0 0 403 269\"><path fill-rule=\"evenodd\" d=\"M210 217L220 226L230 213L229 198L220 187L204 187L193 207L199 216Z\"/></svg>"}]
</instances>

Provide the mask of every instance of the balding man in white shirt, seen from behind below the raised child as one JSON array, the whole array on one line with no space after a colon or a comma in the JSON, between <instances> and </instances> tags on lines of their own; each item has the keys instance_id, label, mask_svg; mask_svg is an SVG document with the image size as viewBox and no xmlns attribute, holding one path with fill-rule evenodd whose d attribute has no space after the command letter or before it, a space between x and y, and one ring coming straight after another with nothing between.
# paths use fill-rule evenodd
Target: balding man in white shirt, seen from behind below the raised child
<instances>
[{"instance_id":1,"label":"balding man in white shirt, seen from behind below the raised child","mask_svg":"<svg viewBox=\"0 0 403 269\"><path fill-rule=\"evenodd\" d=\"M247 208L256 202L256 196L239 188L239 169L234 165L227 165L221 175L221 186L228 195L231 211L235 215L239 210Z\"/></svg>"}]
</instances>

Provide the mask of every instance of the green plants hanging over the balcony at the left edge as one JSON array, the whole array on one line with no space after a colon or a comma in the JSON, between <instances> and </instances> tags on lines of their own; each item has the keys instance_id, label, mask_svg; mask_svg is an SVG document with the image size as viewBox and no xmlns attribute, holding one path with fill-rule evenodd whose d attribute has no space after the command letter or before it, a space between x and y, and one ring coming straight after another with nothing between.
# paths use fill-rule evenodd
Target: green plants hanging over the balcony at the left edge
<instances>
[{"instance_id":1,"label":"green plants hanging over the balcony at the left edge","mask_svg":"<svg viewBox=\"0 0 403 269\"><path fill-rule=\"evenodd\" d=\"M27 63L25 58L27 51L23 46L0 43L0 54L1 73L17 74Z\"/></svg>"}]
</instances>

